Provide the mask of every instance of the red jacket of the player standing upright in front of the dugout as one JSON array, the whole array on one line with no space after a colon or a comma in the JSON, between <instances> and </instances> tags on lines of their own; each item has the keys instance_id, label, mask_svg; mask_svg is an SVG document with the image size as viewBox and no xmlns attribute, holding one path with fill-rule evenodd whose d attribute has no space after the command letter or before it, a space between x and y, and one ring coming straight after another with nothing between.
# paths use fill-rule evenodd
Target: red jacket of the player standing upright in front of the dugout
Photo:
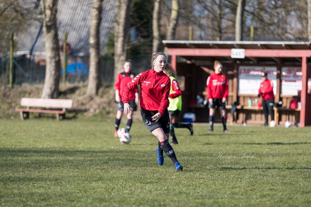
<instances>
[{"instance_id":1,"label":"red jacket of the player standing upright in front of the dugout","mask_svg":"<svg viewBox=\"0 0 311 207\"><path fill-rule=\"evenodd\" d=\"M208 76L206 81L207 99L209 98L227 98L229 95L228 80L224 74L213 73Z\"/></svg>"}]
</instances>

